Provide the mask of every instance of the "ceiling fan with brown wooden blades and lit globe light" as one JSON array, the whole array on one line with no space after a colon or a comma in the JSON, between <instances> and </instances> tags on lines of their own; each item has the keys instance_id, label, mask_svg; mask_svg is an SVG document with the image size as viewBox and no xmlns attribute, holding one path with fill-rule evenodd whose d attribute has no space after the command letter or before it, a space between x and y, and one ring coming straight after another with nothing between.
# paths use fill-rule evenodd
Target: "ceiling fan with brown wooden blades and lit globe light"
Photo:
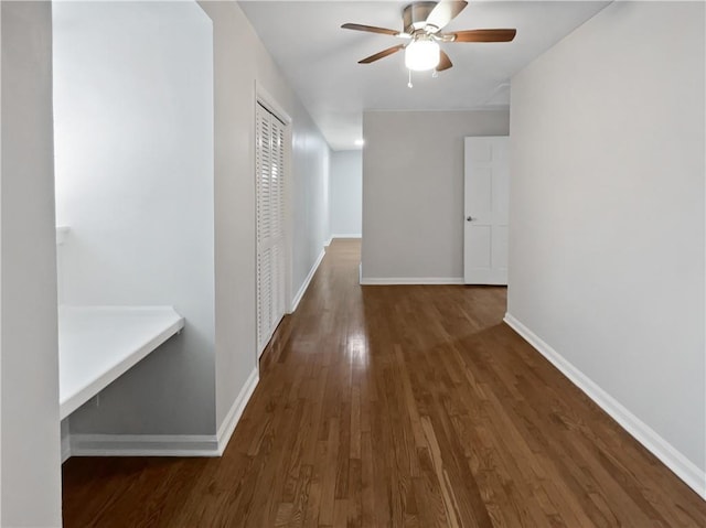
<instances>
[{"instance_id":1,"label":"ceiling fan with brown wooden blades and lit globe light","mask_svg":"<svg viewBox=\"0 0 706 528\"><path fill-rule=\"evenodd\" d=\"M453 64L441 50L439 43L510 42L517 32L517 30L466 30L442 33L441 30L458 17L466 6L468 6L467 1L456 0L410 3L402 12L403 31L352 23L343 24L341 28L382 33L409 41L365 57L359 61L359 64L370 64L405 50L405 66L408 69L416 72L436 69L437 72L442 72L449 69Z\"/></svg>"}]
</instances>

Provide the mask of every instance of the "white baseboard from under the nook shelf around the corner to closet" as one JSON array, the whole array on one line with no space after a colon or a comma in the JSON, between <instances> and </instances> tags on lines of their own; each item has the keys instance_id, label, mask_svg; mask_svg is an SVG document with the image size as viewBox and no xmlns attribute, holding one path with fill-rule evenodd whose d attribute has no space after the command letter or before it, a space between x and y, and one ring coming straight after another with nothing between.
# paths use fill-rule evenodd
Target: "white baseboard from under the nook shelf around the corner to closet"
<instances>
[{"instance_id":1,"label":"white baseboard from under the nook shelf around the corner to closet","mask_svg":"<svg viewBox=\"0 0 706 528\"><path fill-rule=\"evenodd\" d=\"M69 434L62 463L71 456L221 456L259 381L254 368L217 434Z\"/></svg>"}]
</instances>

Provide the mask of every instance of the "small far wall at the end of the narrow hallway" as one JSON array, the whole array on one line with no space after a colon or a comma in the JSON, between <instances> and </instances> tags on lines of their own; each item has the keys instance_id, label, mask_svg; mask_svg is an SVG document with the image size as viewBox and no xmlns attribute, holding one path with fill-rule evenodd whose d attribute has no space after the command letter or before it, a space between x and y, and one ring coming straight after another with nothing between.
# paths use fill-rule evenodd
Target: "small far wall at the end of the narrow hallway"
<instances>
[{"instance_id":1,"label":"small far wall at the end of the narrow hallway","mask_svg":"<svg viewBox=\"0 0 706 528\"><path fill-rule=\"evenodd\" d=\"M360 237L363 223L363 151L331 154L331 236Z\"/></svg>"}]
</instances>

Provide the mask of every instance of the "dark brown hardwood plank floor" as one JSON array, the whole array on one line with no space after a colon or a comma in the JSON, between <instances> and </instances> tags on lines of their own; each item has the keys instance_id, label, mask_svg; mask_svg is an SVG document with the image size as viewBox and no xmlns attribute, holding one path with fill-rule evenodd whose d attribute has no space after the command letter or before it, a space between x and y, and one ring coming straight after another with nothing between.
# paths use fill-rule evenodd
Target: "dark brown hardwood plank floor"
<instances>
[{"instance_id":1,"label":"dark brown hardwood plank floor","mask_svg":"<svg viewBox=\"0 0 706 528\"><path fill-rule=\"evenodd\" d=\"M65 527L705 527L706 503L502 323L363 287L334 240L222 459L71 459Z\"/></svg>"}]
</instances>

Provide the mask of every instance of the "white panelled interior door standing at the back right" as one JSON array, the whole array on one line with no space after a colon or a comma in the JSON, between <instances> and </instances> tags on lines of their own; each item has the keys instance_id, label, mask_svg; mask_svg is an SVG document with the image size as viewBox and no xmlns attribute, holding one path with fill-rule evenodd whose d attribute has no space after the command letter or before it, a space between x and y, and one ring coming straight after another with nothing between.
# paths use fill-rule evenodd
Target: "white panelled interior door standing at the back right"
<instances>
[{"instance_id":1,"label":"white panelled interior door standing at the back right","mask_svg":"<svg viewBox=\"0 0 706 528\"><path fill-rule=\"evenodd\" d=\"M463 280L507 284L510 138L466 138Z\"/></svg>"}]
</instances>

